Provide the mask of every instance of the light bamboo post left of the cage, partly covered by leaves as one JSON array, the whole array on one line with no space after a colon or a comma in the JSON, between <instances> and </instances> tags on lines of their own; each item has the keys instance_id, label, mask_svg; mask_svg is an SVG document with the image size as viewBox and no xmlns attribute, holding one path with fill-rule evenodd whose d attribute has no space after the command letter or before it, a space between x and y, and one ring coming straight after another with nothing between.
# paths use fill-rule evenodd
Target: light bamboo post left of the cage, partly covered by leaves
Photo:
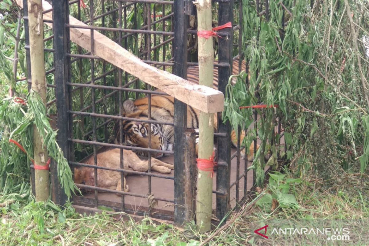
<instances>
[{"instance_id":1,"label":"light bamboo post left of the cage, partly covered by leaves","mask_svg":"<svg viewBox=\"0 0 369 246\"><path fill-rule=\"evenodd\" d=\"M32 89L40 94L46 104L46 79L44 57L44 20L42 18L41 0L28 0L28 28L30 32L30 56ZM42 129L39 129L42 130ZM33 129L35 166L45 166L48 154L44 149L41 136L34 125ZM46 201L49 198L49 170L35 168L36 201Z\"/></svg>"}]
</instances>

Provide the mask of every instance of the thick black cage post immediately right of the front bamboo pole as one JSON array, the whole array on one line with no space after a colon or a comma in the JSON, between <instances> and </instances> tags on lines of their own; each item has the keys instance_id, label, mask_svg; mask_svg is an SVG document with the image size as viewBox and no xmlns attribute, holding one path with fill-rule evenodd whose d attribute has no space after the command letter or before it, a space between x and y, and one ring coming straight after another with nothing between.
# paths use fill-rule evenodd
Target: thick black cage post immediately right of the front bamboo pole
<instances>
[{"instance_id":1,"label":"thick black cage post immediately right of the front bamboo pole","mask_svg":"<svg viewBox=\"0 0 369 246\"><path fill-rule=\"evenodd\" d=\"M233 24L233 4L219 3L218 25L223 25L229 21ZM230 66L218 67L218 90L225 94L225 86L232 74L232 45L233 30L227 28L223 32L228 32L227 38L220 38L218 47L218 63L229 63ZM231 125L227 121L222 121L221 113L218 113L218 132L227 134L225 138L218 139L218 162L227 163L227 166L219 166L217 169L217 190L225 192L225 195L217 194L217 217L223 219L230 210L230 182L231 182Z\"/></svg>"}]
</instances>

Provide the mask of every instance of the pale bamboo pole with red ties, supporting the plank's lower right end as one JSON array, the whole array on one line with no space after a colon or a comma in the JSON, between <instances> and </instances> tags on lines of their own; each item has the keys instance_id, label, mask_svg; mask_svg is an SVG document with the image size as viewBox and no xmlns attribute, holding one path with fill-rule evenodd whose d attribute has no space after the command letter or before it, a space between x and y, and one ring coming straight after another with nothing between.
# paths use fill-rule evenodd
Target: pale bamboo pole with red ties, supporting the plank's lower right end
<instances>
[{"instance_id":1,"label":"pale bamboo pole with red ties, supporting the plank's lower right end","mask_svg":"<svg viewBox=\"0 0 369 246\"><path fill-rule=\"evenodd\" d=\"M197 21L199 31L210 31L211 0L197 0ZM199 84L213 87L213 39L199 37ZM199 159L210 159L214 145L214 114L200 112ZM196 225L200 232L211 229L213 177L209 171L198 171Z\"/></svg>"}]
</instances>

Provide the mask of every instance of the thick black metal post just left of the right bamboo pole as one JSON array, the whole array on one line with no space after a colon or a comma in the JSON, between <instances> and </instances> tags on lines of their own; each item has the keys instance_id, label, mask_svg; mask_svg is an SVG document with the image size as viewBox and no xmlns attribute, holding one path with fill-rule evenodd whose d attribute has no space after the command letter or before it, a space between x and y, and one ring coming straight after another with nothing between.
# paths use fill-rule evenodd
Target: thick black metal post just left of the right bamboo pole
<instances>
[{"instance_id":1,"label":"thick black metal post just left of the right bamboo pole","mask_svg":"<svg viewBox=\"0 0 369 246\"><path fill-rule=\"evenodd\" d=\"M187 25L184 1L174 1L174 67L173 73L187 78ZM174 23L174 25L173 25ZM174 221L184 222L184 131L187 128L187 104L174 100ZM195 153L194 153L195 154Z\"/></svg>"}]
</instances>

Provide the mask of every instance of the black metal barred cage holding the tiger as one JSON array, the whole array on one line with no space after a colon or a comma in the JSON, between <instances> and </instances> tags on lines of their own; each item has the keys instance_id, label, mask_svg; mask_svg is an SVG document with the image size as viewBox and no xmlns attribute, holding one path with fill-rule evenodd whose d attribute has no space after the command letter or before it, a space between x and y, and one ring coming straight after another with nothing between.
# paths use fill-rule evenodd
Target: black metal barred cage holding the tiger
<instances>
[{"instance_id":1,"label":"black metal barred cage holding the tiger","mask_svg":"<svg viewBox=\"0 0 369 246\"><path fill-rule=\"evenodd\" d=\"M28 44L27 0L24 3L25 38ZM87 3L87 1L86 1ZM97 6L97 4L100 4ZM256 1L259 12L268 16L268 0L264 5ZM213 10L217 23L222 25L232 22L232 28L228 28L218 34L215 42L215 54L218 69L218 90L225 93L225 87L232 74L233 60L244 58L242 50L242 1L214 0ZM167 0L101 0L88 1L88 7L82 8L80 0L52 1L53 20L44 20L53 24L51 29L45 32L45 52L53 54L54 63L50 64L48 75L48 90L55 90L55 98L49 97L49 112L57 114L58 143L68 159L71 167L89 166L81 162L86 154L94 156L94 186L78 184L80 188L90 188L92 195L85 197L75 196L74 205L80 209L96 209L109 207L115 211L124 211L128 214L149 215L156 218L175 221L177 224L184 222L184 133L186 132L186 108L187 105L175 99L175 112L173 123L161 122L151 119L151 96L165 94L156 91L150 85L138 78L118 69L94 55L93 31L99 31L113 39L119 45L134 53L146 63L162 70L187 78L187 67L196 66L193 60L196 41L189 42L196 36L196 25L190 24L195 18L196 10L191 0L167 1ZM46 11L44 11L46 13ZM83 21L88 27L69 24L69 15L74 15ZM142 21L143 20L143 21ZM141 21L141 22L140 22ZM193 22L192 22L193 23ZM88 28L91 30L90 51L70 41L70 28ZM190 46L188 46L190 43ZM27 46L26 46L27 47ZM220 48L221 47L221 48ZM196 51L194 52L196 54ZM31 79L30 58L27 52L28 81ZM87 65L86 65L87 64ZM238 63L241 70L241 62ZM246 66L247 70L247 66ZM86 76L86 77L85 77ZM248 83L247 79L245 83ZM174 127L175 145L173 151L142 149L135 146L124 145L122 141L117 144L111 142L111 129L117 122L118 134L122 139L122 120L127 119L122 112L122 103L126 98L148 97L149 120L143 121L149 124L169 124ZM223 219L230 209L240 202L245 201L248 192L254 187L254 173L248 171L251 163L247 157L241 163L240 151L242 148L232 149L230 141L230 124L223 123L221 113L218 113L218 131L215 134L217 145L218 167L216 171L215 189L213 194L215 201L214 215ZM260 117L260 116L259 116ZM258 115L255 112L255 124ZM139 121L139 120L137 120ZM280 122L277 131L281 133ZM149 127L150 129L150 127ZM238 131L240 132L240 131ZM239 138L238 138L239 139ZM256 140L254 141L256 147ZM238 144L239 146L239 144ZM146 179L147 190L142 192L124 192L107 190L98 187L96 156L105 148L120 148L121 166L119 169L107 169L117 171L123 181L124 174L134 174L134 178ZM146 173L123 169L123 149L150 150L148 152L149 170ZM256 151L256 148L255 148ZM173 155L174 172L171 175L155 173L151 170L151 153L165 153ZM195 153L192 153L194 156ZM242 160L243 162L243 160ZM56 163L51 165L52 199L58 204L64 204L66 196L57 180ZM172 194L167 197L155 194L152 187L153 180L166 180L172 182ZM251 181L252 180L252 181ZM163 181L160 181L163 182ZM123 186L123 182L122 182ZM154 187L155 188L155 187ZM114 201L109 200L111 195L101 196L101 193L121 196ZM135 207L130 199L141 198L148 205ZM162 202L162 208L151 206L152 199ZM170 209L163 209L163 207Z\"/></svg>"}]
</instances>

